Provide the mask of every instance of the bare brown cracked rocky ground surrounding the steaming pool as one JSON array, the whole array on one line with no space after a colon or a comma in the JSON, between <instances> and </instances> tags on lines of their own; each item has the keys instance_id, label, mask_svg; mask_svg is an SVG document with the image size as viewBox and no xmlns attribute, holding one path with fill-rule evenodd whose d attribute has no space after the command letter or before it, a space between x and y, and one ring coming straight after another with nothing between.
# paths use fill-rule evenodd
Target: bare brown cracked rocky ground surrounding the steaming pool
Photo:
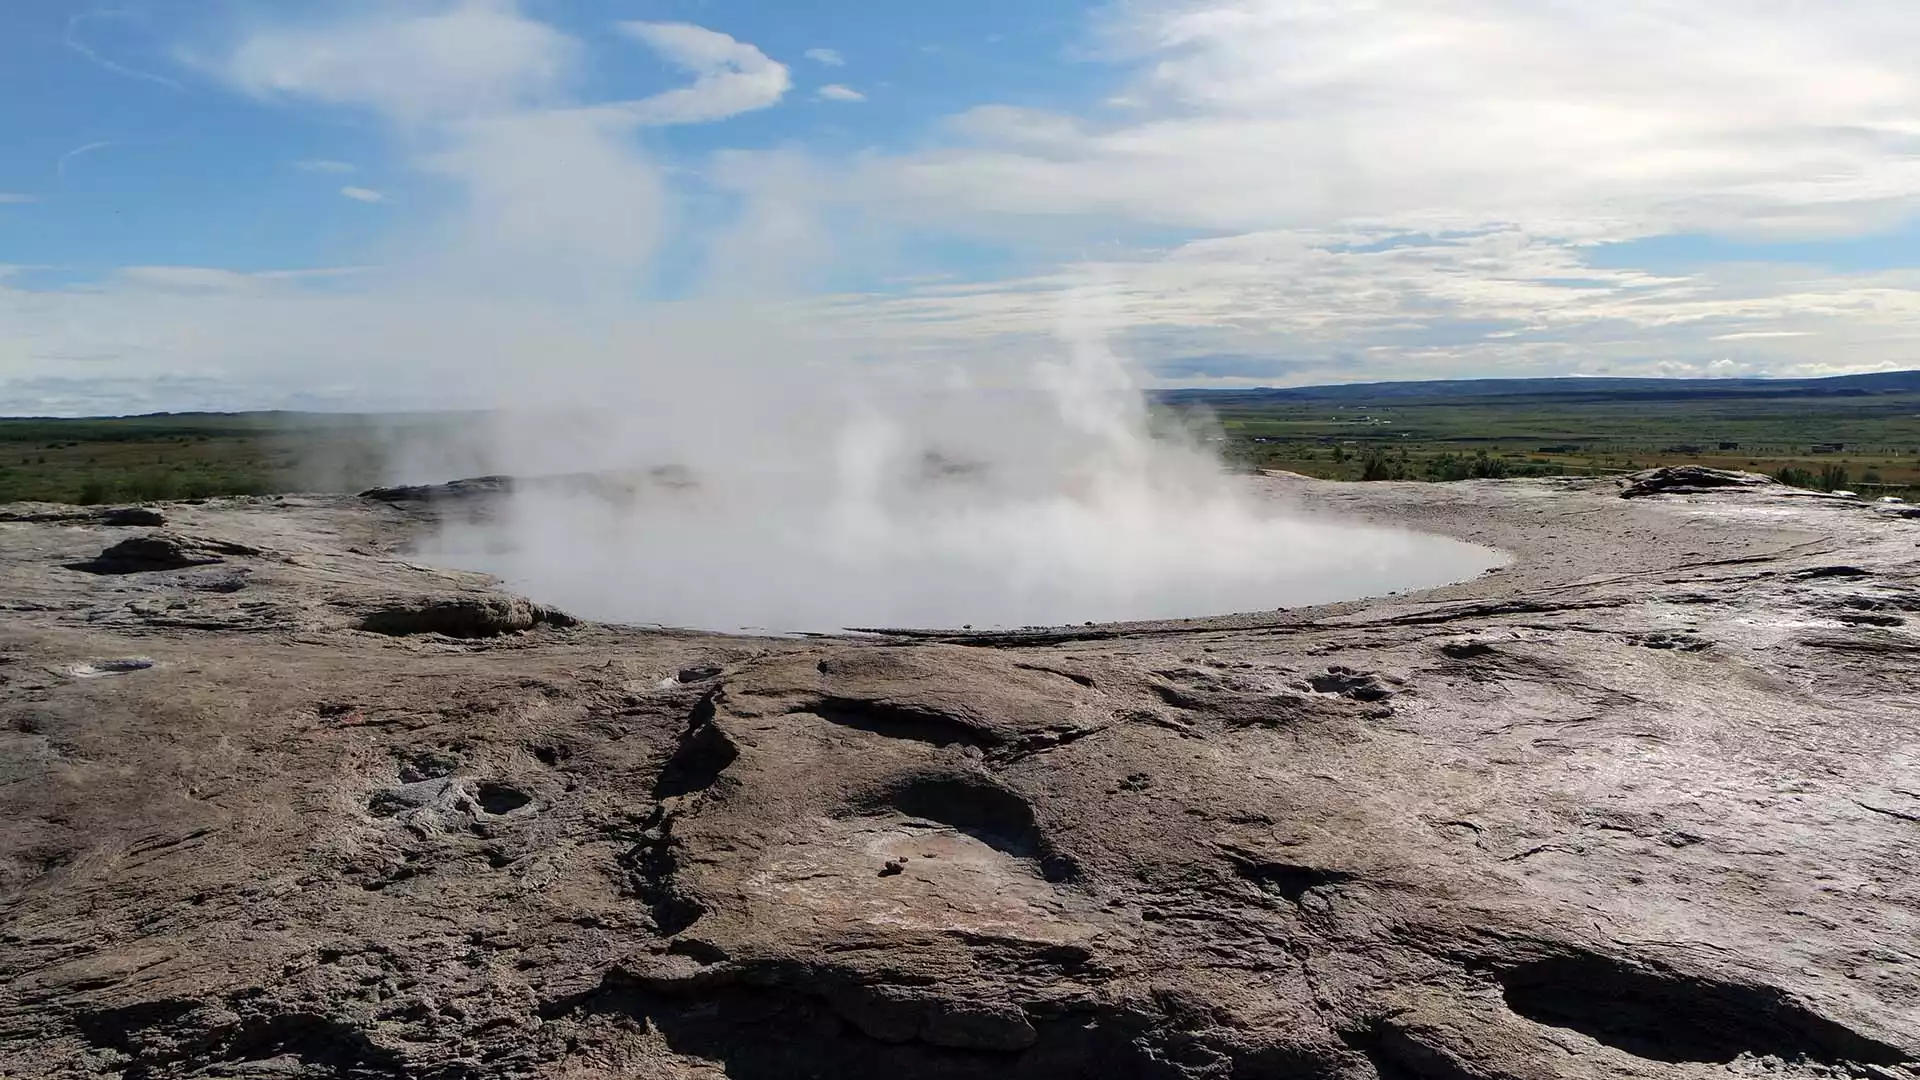
<instances>
[{"instance_id":1,"label":"bare brown cracked rocky ground surrounding the steaming pool","mask_svg":"<svg viewBox=\"0 0 1920 1080\"><path fill-rule=\"evenodd\" d=\"M755 640L405 559L484 486L0 507L0 1074L1920 1076L1920 521L1263 494L1515 561Z\"/></svg>"}]
</instances>

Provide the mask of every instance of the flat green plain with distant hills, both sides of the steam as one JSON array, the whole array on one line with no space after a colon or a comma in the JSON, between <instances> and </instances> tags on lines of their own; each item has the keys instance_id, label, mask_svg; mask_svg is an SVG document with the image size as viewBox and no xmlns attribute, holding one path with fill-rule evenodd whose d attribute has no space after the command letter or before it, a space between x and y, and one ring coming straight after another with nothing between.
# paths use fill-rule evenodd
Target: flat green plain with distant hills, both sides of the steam
<instances>
[{"instance_id":1,"label":"flat green plain with distant hills, both sides of the steam","mask_svg":"<svg viewBox=\"0 0 1920 1080\"><path fill-rule=\"evenodd\" d=\"M1530 379L1171 390L1156 409L1244 469L1342 480L1747 469L1920 494L1920 373L1818 380ZM386 480L399 438L453 415L163 413L0 419L0 502L148 502ZM451 479L451 477L449 477Z\"/></svg>"}]
</instances>

